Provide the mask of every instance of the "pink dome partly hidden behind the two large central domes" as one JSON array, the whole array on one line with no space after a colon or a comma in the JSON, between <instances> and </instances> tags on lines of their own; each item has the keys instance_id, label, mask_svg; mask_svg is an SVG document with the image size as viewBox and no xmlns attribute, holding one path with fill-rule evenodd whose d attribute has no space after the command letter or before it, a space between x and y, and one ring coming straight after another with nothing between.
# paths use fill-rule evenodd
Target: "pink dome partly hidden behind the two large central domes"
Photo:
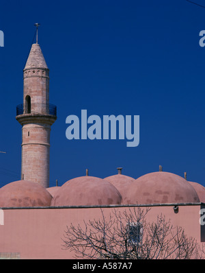
<instances>
[{"instance_id":1,"label":"pink dome partly hidden behind the two large central domes","mask_svg":"<svg viewBox=\"0 0 205 273\"><path fill-rule=\"evenodd\" d=\"M124 174L115 174L114 176L108 176L104 179L109 181L113 186L115 186L116 189L118 189L118 191L120 191L120 194L122 195L121 204L124 204L124 196L126 196L126 191L135 181L135 178L124 176Z\"/></svg>"}]
</instances>

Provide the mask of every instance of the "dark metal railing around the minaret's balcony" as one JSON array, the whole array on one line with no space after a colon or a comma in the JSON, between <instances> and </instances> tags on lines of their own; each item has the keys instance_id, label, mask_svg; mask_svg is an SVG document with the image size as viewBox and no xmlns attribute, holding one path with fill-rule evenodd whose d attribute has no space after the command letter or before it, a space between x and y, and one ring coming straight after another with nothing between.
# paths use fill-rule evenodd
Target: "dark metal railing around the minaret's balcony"
<instances>
[{"instance_id":1,"label":"dark metal railing around the minaret's balcony","mask_svg":"<svg viewBox=\"0 0 205 273\"><path fill-rule=\"evenodd\" d=\"M53 115L57 116L57 107L53 104L18 104L16 106L16 116L25 114Z\"/></svg>"}]
</instances>

